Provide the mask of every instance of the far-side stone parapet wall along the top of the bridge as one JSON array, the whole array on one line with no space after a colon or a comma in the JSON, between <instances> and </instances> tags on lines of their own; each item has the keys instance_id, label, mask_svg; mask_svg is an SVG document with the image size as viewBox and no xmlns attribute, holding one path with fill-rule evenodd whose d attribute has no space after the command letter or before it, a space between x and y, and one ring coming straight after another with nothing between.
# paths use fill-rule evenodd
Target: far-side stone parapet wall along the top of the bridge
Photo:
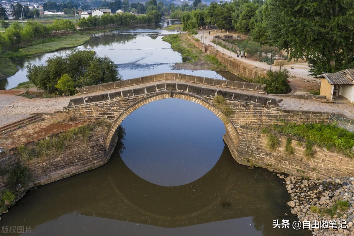
<instances>
[{"instance_id":1,"label":"far-side stone parapet wall along the top of the bridge","mask_svg":"<svg viewBox=\"0 0 354 236\"><path fill-rule=\"evenodd\" d=\"M217 87L246 90L246 91L255 91L259 93L265 93L259 84L253 84L248 82L238 82L230 80L219 80L202 76L195 75L186 75L186 74L177 74L177 73L162 73L156 75L148 75L143 77L138 77L134 79L121 80L116 82L109 82L105 84L85 86L80 88L79 93L90 93L97 92L102 90L109 90L114 88L128 87L132 85L145 84L149 82L163 81L163 80L176 80L176 81L185 81L192 82L196 84L205 84L213 85Z\"/></svg>"}]
</instances>

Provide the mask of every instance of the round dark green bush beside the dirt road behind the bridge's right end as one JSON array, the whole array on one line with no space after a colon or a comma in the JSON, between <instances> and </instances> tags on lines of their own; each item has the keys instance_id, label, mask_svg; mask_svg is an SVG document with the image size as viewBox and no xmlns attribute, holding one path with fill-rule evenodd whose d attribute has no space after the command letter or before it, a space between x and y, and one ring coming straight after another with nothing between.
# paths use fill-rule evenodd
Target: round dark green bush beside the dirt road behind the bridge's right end
<instances>
[{"instance_id":1,"label":"round dark green bush beside the dirt road behind the bridge's right end","mask_svg":"<svg viewBox=\"0 0 354 236\"><path fill-rule=\"evenodd\" d=\"M258 76L255 82L265 84L264 91L271 94L285 94L291 91L288 79L290 72L287 69L268 70L267 77Z\"/></svg>"}]
</instances>

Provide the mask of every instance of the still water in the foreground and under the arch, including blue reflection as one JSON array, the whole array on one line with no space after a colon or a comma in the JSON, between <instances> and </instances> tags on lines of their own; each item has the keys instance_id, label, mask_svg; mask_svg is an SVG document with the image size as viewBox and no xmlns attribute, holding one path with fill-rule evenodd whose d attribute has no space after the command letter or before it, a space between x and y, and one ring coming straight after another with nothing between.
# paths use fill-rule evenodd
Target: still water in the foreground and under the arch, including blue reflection
<instances>
[{"instance_id":1,"label":"still water in the foreground and under the arch, including blue reflection","mask_svg":"<svg viewBox=\"0 0 354 236\"><path fill-rule=\"evenodd\" d=\"M296 220L283 180L236 163L223 122L208 109L169 98L138 108L122 126L121 155L30 191L1 215L0 228L43 236L310 235L273 229L273 219Z\"/></svg>"}]
</instances>

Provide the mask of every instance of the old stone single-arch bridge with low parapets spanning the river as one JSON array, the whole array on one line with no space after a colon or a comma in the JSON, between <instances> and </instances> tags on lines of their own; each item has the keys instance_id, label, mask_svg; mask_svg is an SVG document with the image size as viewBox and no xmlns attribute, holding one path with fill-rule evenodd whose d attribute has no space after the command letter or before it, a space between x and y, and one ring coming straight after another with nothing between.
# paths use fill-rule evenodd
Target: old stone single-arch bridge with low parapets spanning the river
<instances>
[{"instance_id":1,"label":"old stone single-arch bridge with low parapets spanning the river","mask_svg":"<svg viewBox=\"0 0 354 236\"><path fill-rule=\"evenodd\" d=\"M70 100L65 112L79 120L109 121L109 129L102 134L102 149L108 156L105 161L114 149L115 131L125 117L139 107L161 99L185 99L211 110L224 122L224 141L236 161L287 173L295 172L301 163L294 162L292 167L285 168L283 163L289 162L289 157L275 160L262 145L259 129L282 121L303 123L328 119L321 112L282 110L278 104L281 99L267 96L259 84L177 73L144 76L78 90L78 97ZM225 98L223 106L215 105L217 95ZM223 113L225 107L232 111L231 114Z\"/></svg>"}]
</instances>

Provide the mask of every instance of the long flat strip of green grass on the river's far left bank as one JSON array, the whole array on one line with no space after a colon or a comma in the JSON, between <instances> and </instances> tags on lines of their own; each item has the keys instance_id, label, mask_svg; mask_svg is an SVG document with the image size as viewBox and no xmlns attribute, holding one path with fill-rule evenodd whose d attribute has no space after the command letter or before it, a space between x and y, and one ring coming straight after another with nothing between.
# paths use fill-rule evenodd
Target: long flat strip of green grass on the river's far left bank
<instances>
[{"instance_id":1,"label":"long flat strip of green grass on the river's far left bank","mask_svg":"<svg viewBox=\"0 0 354 236\"><path fill-rule=\"evenodd\" d=\"M76 47L90 39L89 35L67 35L33 41L29 46L20 48L18 51L6 52L4 55L10 58L29 57L38 53L53 52L65 48Z\"/></svg>"}]
</instances>

